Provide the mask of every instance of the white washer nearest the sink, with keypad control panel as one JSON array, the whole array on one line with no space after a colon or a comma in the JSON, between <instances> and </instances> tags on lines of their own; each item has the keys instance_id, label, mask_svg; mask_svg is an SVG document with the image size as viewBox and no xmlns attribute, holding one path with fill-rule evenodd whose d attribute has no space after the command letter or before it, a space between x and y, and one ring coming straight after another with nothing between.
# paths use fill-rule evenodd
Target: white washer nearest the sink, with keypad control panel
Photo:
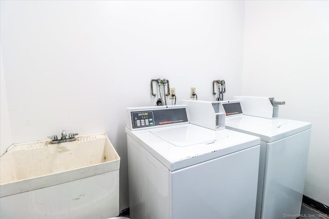
<instances>
[{"instance_id":1,"label":"white washer nearest the sink, with keypad control panel","mask_svg":"<svg viewBox=\"0 0 329 219\"><path fill-rule=\"evenodd\" d=\"M131 218L254 218L259 137L192 125L186 106L126 112Z\"/></svg>"}]
</instances>

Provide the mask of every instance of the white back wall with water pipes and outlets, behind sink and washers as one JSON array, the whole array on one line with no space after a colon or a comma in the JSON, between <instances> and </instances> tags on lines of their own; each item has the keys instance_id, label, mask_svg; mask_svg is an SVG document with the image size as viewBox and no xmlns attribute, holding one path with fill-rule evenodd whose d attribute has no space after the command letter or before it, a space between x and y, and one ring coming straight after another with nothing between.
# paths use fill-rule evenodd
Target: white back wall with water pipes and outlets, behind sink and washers
<instances>
[{"instance_id":1,"label":"white back wall with water pipes and outlets, behind sink and washers","mask_svg":"<svg viewBox=\"0 0 329 219\"><path fill-rule=\"evenodd\" d=\"M243 25L241 1L1 1L12 142L107 132L128 207L125 108L155 104L152 78L177 103L190 87L215 99L215 79L226 98L241 93Z\"/></svg>"}]
</instances>

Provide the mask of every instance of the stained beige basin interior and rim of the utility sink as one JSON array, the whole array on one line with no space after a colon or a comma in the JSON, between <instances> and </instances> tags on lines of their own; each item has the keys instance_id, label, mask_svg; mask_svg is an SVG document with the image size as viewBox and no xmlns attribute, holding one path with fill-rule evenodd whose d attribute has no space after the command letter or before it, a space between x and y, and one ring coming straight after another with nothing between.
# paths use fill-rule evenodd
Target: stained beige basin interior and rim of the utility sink
<instances>
[{"instance_id":1,"label":"stained beige basin interior and rim of the utility sink","mask_svg":"<svg viewBox=\"0 0 329 219\"><path fill-rule=\"evenodd\" d=\"M0 157L1 197L119 169L120 157L106 133L76 138L13 144Z\"/></svg>"}]
</instances>

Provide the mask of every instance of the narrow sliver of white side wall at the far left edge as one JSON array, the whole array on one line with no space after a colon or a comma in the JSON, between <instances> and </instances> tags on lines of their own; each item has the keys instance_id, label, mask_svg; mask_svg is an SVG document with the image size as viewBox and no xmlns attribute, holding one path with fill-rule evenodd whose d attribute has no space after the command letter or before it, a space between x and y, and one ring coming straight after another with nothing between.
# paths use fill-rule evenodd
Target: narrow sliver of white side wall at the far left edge
<instances>
[{"instance_id":1,"label":"narrow sliver of white side wall at the far left edge","mask_svg":"<svg viewBox=\"0 0 329 219\"><path fill-rule=\"evenodd\" d=\"M11 139L11 128L9 120L9 111L7 103L7 90L6 90L6 80L4 74L4 66L2 62L2 52L0 49L0 156L4 154L7 150L7 147L12 144Z\"/></svg>"}]
</instances>

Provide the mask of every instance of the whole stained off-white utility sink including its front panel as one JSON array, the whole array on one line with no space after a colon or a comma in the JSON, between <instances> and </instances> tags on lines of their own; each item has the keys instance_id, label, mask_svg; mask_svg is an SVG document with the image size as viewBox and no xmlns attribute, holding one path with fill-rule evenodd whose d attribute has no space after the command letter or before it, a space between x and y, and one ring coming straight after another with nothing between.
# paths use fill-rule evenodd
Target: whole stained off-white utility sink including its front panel
<instances>
[{"instance_id":1,"label":"whole stained off-white utility sink including its front panel","mask_svg":"<svg viewBox=\"0 0 329 219\"><path fill-rule=\"evenodd\" d=\"M76 141L60 144L50 144L50 140L13 144L0 157L1 217L35 218L47 215L49 218L79 218L89 215L94 218L106 218L118 215L119 155L109 142L106 133L80 135L76 138ZM52 211L59 211L52 204L51 210L49 207L44 207L41 210L38 209L38 212L27 215L26 211L31 211L30 197L40 189L47 189L44 192L48 194L49 192L56 194L59 197L58 202L65 202L63 196L69 196L68 203L62 203L64 208L66 206L67 211L62 209L64 214L52 214ZM70 191L71 196L68 194ZM90 192L89 198L87 191ZM60 194L61 192L64 193ZM86 207L88 202L96 202L95 197L93 200L90 195L93 196L97 193L99 193L97 198L102 203L95 205L97 209ZM26 204L17 210L15 207L17 201L22 200L25 196L27 200L24 203ZM42 206L46 206L47 202L53 203L53 196L50 195L49 200L45 195L42 196L44 197L34 198L34 201L38 203L33 203L33 206L41 203ZM78 200L79 202L72 202ZM83 200L85 202L82 202ZM111 211L110 202L115 202L113 213L108 213ZM96 210L102 212L99 210L102 206L104 214L101 216L92 214ZM24 212L25 207L27 209ZM85 213L83 209L85 209ZM22 214L17 214L17 211L22 211Z\"/></svg>"}]
</instances>

